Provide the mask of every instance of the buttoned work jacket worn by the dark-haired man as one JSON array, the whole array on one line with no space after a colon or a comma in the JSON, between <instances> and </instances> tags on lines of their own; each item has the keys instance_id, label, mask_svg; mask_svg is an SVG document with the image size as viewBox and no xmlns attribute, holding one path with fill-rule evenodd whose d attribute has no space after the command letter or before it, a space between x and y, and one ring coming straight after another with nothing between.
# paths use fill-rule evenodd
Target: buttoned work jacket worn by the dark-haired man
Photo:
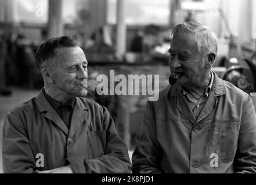
<instances>
[{"instance_id":1,"label":"buttoned work jacket worn by the dark-haired man","mask_svg":"<svg viewBox=\"0 0 256 185\"><path fill-rule=\"evenodd\" d=\"M5 173L67 164L74 173L129 173L131 168L127 146L106 108L76 97L68 130L42 91L7 114L2 159Z\"/></svg>"}]
</instances>

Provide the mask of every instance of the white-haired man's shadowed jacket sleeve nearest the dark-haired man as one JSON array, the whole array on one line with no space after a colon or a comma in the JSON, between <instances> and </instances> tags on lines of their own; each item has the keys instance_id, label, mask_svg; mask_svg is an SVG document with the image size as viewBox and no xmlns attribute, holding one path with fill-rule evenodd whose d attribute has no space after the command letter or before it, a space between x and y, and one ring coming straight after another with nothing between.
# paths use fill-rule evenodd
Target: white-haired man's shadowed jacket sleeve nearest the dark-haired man
<instances>
[{"instance_id":1,"label":"white-haired man's shadowed jacket sleeve nearest the dark-haired man","mask_svg":"<svg viewBox=\"0 0 256 185\"><path fill-rule=\"evenodd\" d=\"M132 155L133 173L161 173L162 149L156 138L156 118L152 102L147 102L142 127Z\"/></svg>"}]
</instances>

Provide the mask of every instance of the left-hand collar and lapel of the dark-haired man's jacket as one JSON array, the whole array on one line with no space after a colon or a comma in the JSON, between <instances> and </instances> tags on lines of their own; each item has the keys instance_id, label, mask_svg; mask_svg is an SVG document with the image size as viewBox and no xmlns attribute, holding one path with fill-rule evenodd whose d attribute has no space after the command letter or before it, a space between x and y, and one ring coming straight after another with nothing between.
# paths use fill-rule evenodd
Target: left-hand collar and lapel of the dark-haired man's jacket
<instances>
[{"instance_id":1,"label":"left-hand collar and lapel of the dark-haired man's jacket","mask_svg":"<svg viewBox=\"0 0 256 185\"><path fill-rule=\"evenodd\" d=\"M56 110L53 109L52 105L45 98L42 90L39 92L35 102L37 103L39 113L41 113L47 119L53 121L53 123L55 123L57 127L64 132L64 134L68 135L67 126L64 124L59 114L57 114Z\"/></svg>"}]
</instances>

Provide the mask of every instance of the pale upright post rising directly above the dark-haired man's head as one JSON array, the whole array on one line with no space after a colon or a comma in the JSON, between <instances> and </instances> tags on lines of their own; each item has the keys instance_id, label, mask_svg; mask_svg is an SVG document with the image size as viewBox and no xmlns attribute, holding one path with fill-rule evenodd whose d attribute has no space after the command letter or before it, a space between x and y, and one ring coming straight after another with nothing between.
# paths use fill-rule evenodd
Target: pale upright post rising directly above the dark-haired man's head
<instances>
[{"instance_id":1,"label":"pale upright post rising directly above the dark-haired man's head","mask_svg":"<svg viewBox=\"0 0 256 185\"><path fill-rule=\"evenodd\" d=\"M62 0L49 0L48 38L62 35Z\"/></svg>"}]
</instances>

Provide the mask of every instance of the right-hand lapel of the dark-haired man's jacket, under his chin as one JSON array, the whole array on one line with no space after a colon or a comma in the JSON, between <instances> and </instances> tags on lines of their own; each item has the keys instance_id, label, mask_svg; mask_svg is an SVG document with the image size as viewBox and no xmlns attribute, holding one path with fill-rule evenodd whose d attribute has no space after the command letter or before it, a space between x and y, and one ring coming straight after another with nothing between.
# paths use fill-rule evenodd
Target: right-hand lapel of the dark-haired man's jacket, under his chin
<instances>
[{"instance_id":1,"label":"right-hand lapel of the dark-haired man's jacket, under his chin","mask_svg":"<svg viewBox=\"0 0 256 185\"><path fill-rule=\"evenodd\" d=\"M75 98L75 105L71 117L70 129L68 137L73 137L78 128L88 120L88 108L84 105L80 98ZM88 121L86 121L88 122Z\"/></svg>"}]
</instances>

